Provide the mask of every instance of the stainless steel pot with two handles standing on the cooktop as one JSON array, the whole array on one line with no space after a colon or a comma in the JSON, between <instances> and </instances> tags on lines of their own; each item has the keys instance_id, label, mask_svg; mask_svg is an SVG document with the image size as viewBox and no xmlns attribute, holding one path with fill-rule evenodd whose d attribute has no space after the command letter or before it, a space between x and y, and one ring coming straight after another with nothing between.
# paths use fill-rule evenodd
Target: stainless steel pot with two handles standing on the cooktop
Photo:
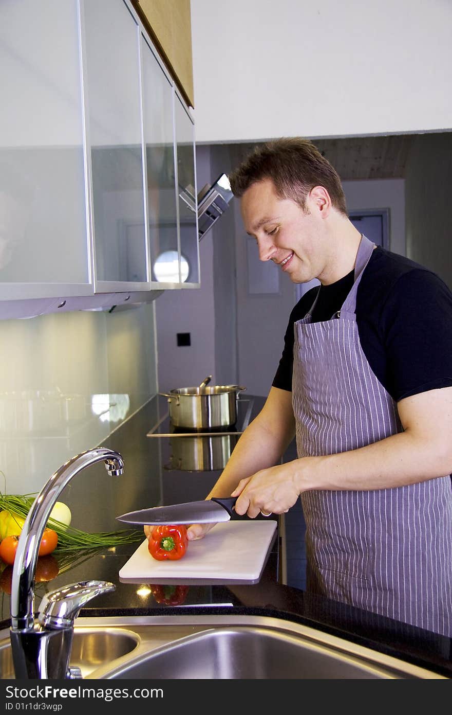
<instances>
[{"instance_id":1,"label":"stainless steel pot with two handles standing on the cooktop","mask_svg":"<svg viewBox=\"0 0 452 715\"><path fill-rule=\"evenodd\" d=\"M235 425L237 398L243 390L246 388L238 385L198 385L159 394L168 398L169 418L174 427L211 430Z\"/></svg>"}]
</instances>

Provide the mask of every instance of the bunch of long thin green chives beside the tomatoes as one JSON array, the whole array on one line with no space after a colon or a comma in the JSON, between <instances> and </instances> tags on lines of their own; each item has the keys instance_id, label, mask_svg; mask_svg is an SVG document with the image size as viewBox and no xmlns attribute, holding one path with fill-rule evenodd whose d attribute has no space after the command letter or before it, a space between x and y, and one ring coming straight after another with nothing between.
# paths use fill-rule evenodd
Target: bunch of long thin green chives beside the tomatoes
<instances>
[{"instance_id":1,"label":"bunch of long thin green chives beside the tomatoes","mask_svg":"<svg viewBox=\"0 0 452 715\"><path fill-rule=\"evenodd\" d=\"M17 516L26 518L31 505L34 503L35 494L2 494L0 492L0 510L6 509ZM144 533L141 529L134 531L100 531L89 533L66 526L61 521L49 519L47 526L58 534L58 545L55 551L72 551L88 548L107 548L121 546L121 544L142 541Z\"/></svg>"}]
</instances>

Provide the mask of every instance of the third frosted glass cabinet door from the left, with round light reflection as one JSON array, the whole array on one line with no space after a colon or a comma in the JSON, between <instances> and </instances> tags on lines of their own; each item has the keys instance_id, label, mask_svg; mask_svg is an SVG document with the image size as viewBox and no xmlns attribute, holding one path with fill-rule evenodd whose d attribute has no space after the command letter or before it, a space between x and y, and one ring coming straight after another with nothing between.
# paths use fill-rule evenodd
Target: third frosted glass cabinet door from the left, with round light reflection
<instances>
[{"instance_id":1,"label":"third frosted glass cabinet door from the left, with round light reflection","mask_svg":"<svg viewBox=\"0 0 452 715\"><path fill-rule=\"evenodd\" d=\"M173 87L144 36L141 49L151 281L179 284Z\"/></svg>"}]
</instances>

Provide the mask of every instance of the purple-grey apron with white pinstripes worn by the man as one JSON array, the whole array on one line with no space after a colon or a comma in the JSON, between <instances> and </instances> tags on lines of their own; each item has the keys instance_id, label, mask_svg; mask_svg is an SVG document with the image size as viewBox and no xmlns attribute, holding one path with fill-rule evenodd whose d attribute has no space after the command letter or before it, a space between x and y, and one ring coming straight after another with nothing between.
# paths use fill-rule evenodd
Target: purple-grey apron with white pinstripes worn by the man
<instances>
[{"instance_id":1,"label":"purple-grey apron with white pinstripes worn by the man","mask_svg":"<svg viewBox=\"0 0 452 715\"><path fill-rule=\"evenodd\" d=\"M299 458L358 449L403 430L356 325L356 291L373 248L363 236L355 282L331 320L311 322L312 306L295 323ZM310 490L301 503L308 591L452 636L450 477L392 489Z\"/></svg>"}]
</instances>

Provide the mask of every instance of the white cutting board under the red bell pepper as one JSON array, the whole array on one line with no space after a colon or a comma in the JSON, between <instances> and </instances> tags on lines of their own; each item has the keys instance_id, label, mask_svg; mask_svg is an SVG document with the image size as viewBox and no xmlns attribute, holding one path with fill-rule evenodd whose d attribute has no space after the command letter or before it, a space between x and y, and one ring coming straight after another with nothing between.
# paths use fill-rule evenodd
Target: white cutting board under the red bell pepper
<instances>
[{"instance_id":1,"label":"white cutting board under the red bell pepper","mask_svg":"<svg viewBox=\"0 0 452 715\"><path fill-rule=\"evenodd\" d=\"M119 571L126 583L257 583L261 578L276 521L217 523L202 539L189 541L178 561L157 561L145 539Z\"/></svg>"}]
</instances>

